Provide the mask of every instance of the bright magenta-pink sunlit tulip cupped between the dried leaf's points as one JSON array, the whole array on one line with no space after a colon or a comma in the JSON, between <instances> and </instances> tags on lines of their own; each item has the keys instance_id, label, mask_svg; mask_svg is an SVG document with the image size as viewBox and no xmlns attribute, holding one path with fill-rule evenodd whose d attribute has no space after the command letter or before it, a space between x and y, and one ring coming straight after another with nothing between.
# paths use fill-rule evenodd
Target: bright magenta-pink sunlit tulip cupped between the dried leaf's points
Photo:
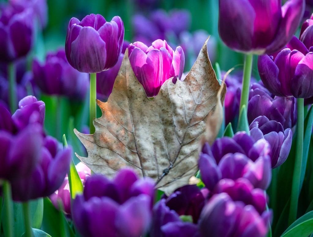
<instances>
[{"instance_id":1,"label":"bright magenta-pink sunlit tulip cupped between the dried leaf's points","mask_svg":"<svg viewBox=\"0 0 313 237\"><path fill-rule=\"evenodd\" d=\"M182 48L175 50L164 40L156 40L149 48L141 42L128 46L131 67L146 91L148 98L155 97L162 84L169 78L176 83L181 80L185 65Z\"/></svg>"}]
</instances>

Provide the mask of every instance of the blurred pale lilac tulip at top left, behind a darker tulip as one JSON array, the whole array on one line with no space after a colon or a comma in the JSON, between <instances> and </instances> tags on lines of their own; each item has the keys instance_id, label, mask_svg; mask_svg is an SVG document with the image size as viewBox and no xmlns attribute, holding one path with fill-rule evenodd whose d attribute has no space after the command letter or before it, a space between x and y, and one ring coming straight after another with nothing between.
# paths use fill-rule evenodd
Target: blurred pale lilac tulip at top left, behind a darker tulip
<instances>
[{"instance_id":1,"label":"blurred pale lilac tulip at top left, behind a darker tulip","mask_svg":"<svg viewBox=\"0 0 313 237\"><path fill-rule=\"evenodd\" d=\"M48 23L48 6L46 0L10 0L10 4L17 9L31 8L38 18L41 29Z\"/></svg>"}]
</instances>

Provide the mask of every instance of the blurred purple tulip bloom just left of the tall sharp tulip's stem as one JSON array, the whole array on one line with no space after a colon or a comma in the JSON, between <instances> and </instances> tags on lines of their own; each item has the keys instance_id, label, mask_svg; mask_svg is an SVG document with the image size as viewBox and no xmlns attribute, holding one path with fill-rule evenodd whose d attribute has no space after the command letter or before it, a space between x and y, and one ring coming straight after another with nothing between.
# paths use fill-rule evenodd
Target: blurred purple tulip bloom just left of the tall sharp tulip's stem
<instances>
[{"instance_id":1,"label":"blurred purple tulip bloom just left of the tall sharp tulip's stem","mask_svg":"<svg viewBox=\"0 0 313 237\"><path fill-rule=\"evenodd\" d=\"M89 75L75 70L67 61L64 49L48 53L44 64L33 61L33 79L42 92L83 100Z\"/></svg>"}]
</instances>

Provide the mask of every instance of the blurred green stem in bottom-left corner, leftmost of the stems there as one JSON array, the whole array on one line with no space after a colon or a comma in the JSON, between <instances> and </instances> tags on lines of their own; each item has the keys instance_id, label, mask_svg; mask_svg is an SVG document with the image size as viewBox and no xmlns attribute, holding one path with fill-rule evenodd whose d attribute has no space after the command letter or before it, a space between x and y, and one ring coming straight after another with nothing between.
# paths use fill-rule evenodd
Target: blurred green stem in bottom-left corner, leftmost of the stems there
<instances>
[{"instance_id":1,"label":"blurred green stem in bottom-left corner, leftmost of the stems there","mask_svg":"<svg viewBox=\"0 0 313 237\"><path fill-rule=\"evenodd\" d=\"M13 204L12 204L12 193L11 193L11 184L7 180L3 180L2 185L3 190L3 209L6 217L6 236L13 237ZM4 228L3 228L4 229Z\"/></svg>"}]
</instances>

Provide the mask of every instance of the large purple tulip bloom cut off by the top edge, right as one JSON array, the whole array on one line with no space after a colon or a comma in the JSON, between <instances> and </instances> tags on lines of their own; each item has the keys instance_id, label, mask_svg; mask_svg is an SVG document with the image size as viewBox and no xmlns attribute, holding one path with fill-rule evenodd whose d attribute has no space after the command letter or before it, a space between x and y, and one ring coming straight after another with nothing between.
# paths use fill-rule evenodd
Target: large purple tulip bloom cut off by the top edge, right
<instances>
[{"instance_id":1,"label":"large purple tulip bloom cut off by the top edge, right","mask_svg":"<svg viewBox=\"0 0 313 237\"><path fill-rule=\"evenodd\" d=\"M274 53L297 30L304 0L219 0L218 29L223 42L235 51Z\"/></svg>"}]
</instances>

